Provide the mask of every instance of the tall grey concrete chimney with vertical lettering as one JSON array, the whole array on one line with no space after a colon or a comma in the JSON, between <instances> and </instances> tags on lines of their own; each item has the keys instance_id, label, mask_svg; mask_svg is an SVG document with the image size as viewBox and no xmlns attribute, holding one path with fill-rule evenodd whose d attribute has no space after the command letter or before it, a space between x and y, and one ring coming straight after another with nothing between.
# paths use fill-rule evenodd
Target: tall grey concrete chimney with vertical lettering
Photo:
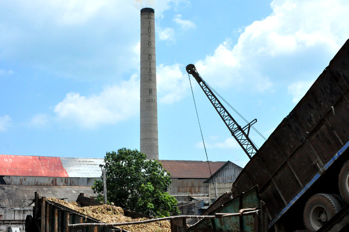
<instances>
[{"instance_id":1,"label":"tall grey concrete chimney with vertical lettering","mask_svg":"<svg viewBox=\"0 0 349 232\"><path fill-rule=\"evenodd\" d=\"M159 159L154 9L141 10L141 152Z\"/></svg>"}]
</instances>

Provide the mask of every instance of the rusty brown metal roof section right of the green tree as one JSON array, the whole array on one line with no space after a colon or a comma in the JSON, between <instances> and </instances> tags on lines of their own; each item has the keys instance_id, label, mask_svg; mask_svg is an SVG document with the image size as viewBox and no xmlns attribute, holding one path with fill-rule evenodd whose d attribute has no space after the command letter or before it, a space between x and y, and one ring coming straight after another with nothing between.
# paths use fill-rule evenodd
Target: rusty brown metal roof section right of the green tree
<instances>
[{"instance_id":1,"label":"rusty brown metal roof section right of the green tree","mask_svg":"<svg viewBox=\"0 0 349 232\"><path fill-rule=\"evenodd\" d=\"M209 178L210 172L207 161L193 160L159 160L171 178ZM226 162L209 161L211 173L214 174Z\"/></svg>"}]
</instances>

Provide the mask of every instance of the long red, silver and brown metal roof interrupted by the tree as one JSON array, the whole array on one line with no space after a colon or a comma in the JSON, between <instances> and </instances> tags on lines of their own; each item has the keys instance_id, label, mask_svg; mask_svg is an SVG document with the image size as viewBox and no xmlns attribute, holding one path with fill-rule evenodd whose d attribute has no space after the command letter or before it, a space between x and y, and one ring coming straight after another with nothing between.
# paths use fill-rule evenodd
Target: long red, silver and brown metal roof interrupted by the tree
<instances>
[{"instance_id":1,"label":"long red, silver and brown metal roof interrupted by the tree","mask_svg":"<svg viewBox=\"0 0 349 232\"><path fill-rule=\"evenodd\" d=\"M207 161L195 160L159 160L172 178L210 177ZM209 161L214 174L226 162ZM101 177L101 158L64 158L45 156L0 155L0 176L32 177Z\"/></svg>"}]
</instances>

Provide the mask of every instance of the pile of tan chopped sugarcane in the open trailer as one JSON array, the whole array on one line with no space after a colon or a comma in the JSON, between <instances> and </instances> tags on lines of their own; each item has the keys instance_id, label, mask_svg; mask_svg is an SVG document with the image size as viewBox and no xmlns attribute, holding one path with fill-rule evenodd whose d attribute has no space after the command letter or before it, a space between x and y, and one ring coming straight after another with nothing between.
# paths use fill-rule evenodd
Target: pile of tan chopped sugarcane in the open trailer
<instances>
[{"instance_id":1,"label":"pile of tan chopped sugarcane in the open trailer","mask_svg":"<svg viewBox=\"0 0 349 232\"><path fill-rule=\"evenodd\" d=\"M57 198L48 198L50 201L57 202L68 208L76 210L82 214L85 214L89 217L100 220L103 223L119 223L119 222L132 222L132 221L144 221L147 218L137 218L132 219L124 215L124 210L121 207L114 205L95 205L95 206L84 206L81 207L76 202L67 202ZM158 231L158 232L170 232L171 226L169 221L159 221L151 222L145 224L136 224L136 225L123 225L118 226L122 229L128 230L130 232L141 232L141 231Z\"/></svg>"}]
</instances>

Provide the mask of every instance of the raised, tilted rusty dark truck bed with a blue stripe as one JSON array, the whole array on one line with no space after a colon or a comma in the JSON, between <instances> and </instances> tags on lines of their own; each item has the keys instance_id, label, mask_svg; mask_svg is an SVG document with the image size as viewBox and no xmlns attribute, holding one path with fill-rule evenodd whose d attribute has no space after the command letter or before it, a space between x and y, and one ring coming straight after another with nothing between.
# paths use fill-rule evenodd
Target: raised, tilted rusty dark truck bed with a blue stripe
<instances>
[{"instance_id":1,"label":"raised, tilted rusty dark truck bed with a blue stripe","mask_svg":"<svg viewBox=\"0 0 349 232\"><path fill-rule=\"evenodd\" d=\"M269 227L299 229L309 196L338 193L338 170L349 156L348 88L349 40L235 181L233 197L259 186Z\"/></svg>"}]
</instances>

